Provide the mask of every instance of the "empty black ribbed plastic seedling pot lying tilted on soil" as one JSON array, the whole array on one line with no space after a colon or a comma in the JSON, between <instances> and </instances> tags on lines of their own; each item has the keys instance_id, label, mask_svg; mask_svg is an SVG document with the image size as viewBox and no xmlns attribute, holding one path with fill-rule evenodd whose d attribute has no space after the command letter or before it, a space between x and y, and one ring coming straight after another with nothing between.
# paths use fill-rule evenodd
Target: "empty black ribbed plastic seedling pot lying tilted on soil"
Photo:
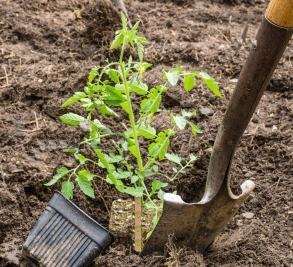
<instances>
[{"instance_id":1,"label":"empty black ribbed plastic seedling pot lying tilted on soil","mask_svg":"<svg viewBox=\"0 0 293 267\"><path fill-rule=\"evenodd\" d=\"M114 241L114 235L55 192L29 233L22 255L37 266L87 266Z\"/></svg>"}]
</instances>

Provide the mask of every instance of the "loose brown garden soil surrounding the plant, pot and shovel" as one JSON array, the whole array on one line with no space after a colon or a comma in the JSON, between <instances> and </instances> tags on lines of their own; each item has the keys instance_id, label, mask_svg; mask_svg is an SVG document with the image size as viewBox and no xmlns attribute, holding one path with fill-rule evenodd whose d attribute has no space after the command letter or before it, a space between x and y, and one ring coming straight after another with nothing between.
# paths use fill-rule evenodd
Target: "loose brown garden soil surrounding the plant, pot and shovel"
<instances>
[{"instance_id":1,"label":"loose brown garden soil surrounding the plant, pot and shovel","mask_svg":"<svg viewBox=\"0 0 293 267\"><path fill-rule=\"evenodd\" d=\"M125 1L132 22L149 40L145 60L149 86L161 69L183 66L203 70L220 85L216 98L200 83L192 97L173 88L163 107L197 110L194 121L203 130L189 142L182 132L171 150L198 154L193 168L174 182L185 201L202 196L218 125L267 6L266 0ZM248 23L245 43L238 39ZM85 132L62 124L59 116L76 108L60 108L80 91L89 70L119 51L109 50L120 27L117 10L108 1L0 0L0 266L30 266L21 246L56 187L45 187L61 166L76 164L62 152ZM245 131L231 169L232 189L246 179L256 183L252 195L201 256L169 244L169 255L140 258L127 237L98 257L92 266L293 266L293 68L291 42ZM127 53L132 53L128 51ZM168 125L157 115L159 125ZM155 116L154 116L155 117ZM167 116L168 117L168 116ZM163 123L162 123L163 120ZM113 125L113 122L109 121ZM188 147L188 149L186 149ZM170 166L162 165L167 172ZM109 226L107 209L127 196L95 181L95 199L75 191L73 202Z\"/></svg>"}]
</instances>

